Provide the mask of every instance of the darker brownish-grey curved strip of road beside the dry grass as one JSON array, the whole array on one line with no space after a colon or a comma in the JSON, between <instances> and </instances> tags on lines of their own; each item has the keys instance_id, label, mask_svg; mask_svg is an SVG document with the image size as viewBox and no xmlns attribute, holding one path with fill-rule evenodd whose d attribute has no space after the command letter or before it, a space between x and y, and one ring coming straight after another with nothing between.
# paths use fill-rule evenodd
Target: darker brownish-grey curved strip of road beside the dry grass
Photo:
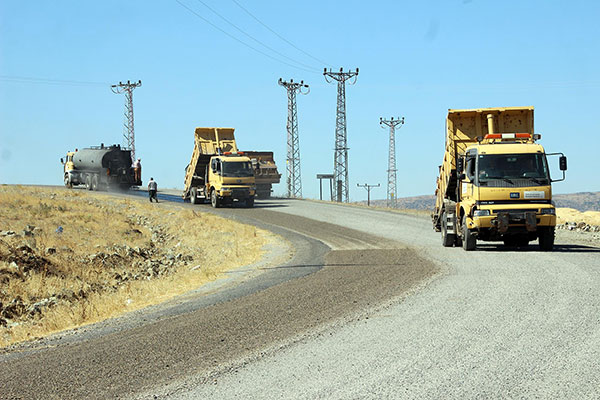
<instances>
[{"instance_id":1,"label":"darker brownish-grey curved strip of road beside the dry grass","mask_svg":"<svg viewBox=\"0 0 600 400\"><path fill-rule=\"evenodd\" d=\"M218 290L4 352L0 398L183 393L190 382L206 385L366 317L438 273L434 263L385 235L288 212L302 203L276 200L254 209L223 210L195 206L271 229L292 244L295 254L286 262L274 257L250 268Z\"/></svg>"}]
</instances>

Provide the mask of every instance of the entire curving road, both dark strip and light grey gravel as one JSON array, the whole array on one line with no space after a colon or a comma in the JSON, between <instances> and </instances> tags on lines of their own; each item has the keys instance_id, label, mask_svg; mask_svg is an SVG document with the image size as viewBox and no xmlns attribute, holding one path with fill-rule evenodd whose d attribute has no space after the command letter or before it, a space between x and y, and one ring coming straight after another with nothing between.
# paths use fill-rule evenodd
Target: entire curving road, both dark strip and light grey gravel
<instances>
[{"instance_id":1,"label":"entire curving road, both dark strip and light grey gravel","mask_svg":"<svg viewBox=\"0 0 600 400\"><path fill-rule=\"evenodd\" d=\"M484 245L467 257L421 217L257 205L218 212L288 238L298 251L285 268L146 322L4 354L0 397L600 396L600 249Z\"/></svg>"}]
</instances>

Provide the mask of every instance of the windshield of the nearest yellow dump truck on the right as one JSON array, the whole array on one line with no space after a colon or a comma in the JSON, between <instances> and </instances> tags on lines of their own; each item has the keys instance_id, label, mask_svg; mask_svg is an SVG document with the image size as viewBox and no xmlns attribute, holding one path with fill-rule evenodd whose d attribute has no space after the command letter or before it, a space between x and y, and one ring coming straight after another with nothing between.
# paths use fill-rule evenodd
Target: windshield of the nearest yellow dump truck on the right
<instances>
[{"instance_id":1,"label":"windshield of the nearest yellow dump truck on the right","mask_svg":"<svg viewBox=\"0 0 600 400\"><path fill-rule=\"evenodd\" d=\"M549 183L546 158L543 154L480 155L477 167L479 183L483 186L498 186L493 181L514 186Z\"/></svg>"}]
</instances>

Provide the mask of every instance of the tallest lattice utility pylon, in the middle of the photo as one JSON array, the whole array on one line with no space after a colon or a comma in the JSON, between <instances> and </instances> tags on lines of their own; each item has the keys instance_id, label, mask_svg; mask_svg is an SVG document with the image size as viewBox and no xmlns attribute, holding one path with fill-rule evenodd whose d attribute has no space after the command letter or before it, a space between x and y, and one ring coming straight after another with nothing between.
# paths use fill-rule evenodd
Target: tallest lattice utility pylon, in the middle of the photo
<instances>
[{"instance_id":1,"label":"tallest lattice utility pylon, in the middle of the photo","mask_svg":"<svg viewBox=\"0 0 600 400\"><path fill-rule=\"evenodd\" d=\"M331 69L327 71L327 68L325 68L323 75L327 83L331 83L333 80L336 80L338 83L337 113L335 118L335 154L333 157L335 182L333 190L335 201L344 201L347 203L350 200L350 191L348 186L348 140L346 137L346 81L354 78L348 84L354 85L356 83L358 68L356 68L356 71L348 72L344 72L343 68L340 68L340 72L332 72Z\"/></svg>"}]
</instances>

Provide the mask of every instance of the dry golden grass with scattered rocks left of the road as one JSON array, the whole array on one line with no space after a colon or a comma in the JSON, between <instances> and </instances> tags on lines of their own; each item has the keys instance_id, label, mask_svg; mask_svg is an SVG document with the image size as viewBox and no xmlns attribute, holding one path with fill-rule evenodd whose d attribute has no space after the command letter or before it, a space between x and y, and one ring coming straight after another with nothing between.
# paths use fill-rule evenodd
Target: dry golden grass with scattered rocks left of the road
<instances>
[{"instance_id":1,"label":"dry golden grass with scattered rocks left of the road","mask_svg":"<svg viewBox=\"0 0 600 400\"><path fill-rule=\"evenodd\" d=\"M270 240L142 199L0 186L0 347L187 292L257 261Z\"/></svg>"}]
</instances>

